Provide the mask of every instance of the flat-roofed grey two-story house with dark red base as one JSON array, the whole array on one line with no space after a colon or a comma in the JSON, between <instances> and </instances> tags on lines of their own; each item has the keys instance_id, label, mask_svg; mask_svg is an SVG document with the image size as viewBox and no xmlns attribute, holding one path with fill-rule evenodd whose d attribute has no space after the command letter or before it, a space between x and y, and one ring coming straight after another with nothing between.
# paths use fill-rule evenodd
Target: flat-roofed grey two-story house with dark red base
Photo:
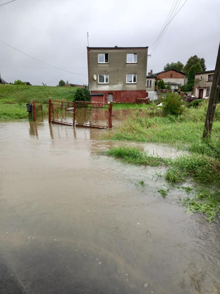
<instances>
[{"instance_id":1,"label":"flat-roofed grey two-story house with dark red base","mask_svg":"<svg viewBox=\"0 0 220 294\"><path fill-rule=\"evenodd\" d=\"M92 101L136 103L146 98L147 57L148 47L87 47Z\"/></svg>"}]
</instances>

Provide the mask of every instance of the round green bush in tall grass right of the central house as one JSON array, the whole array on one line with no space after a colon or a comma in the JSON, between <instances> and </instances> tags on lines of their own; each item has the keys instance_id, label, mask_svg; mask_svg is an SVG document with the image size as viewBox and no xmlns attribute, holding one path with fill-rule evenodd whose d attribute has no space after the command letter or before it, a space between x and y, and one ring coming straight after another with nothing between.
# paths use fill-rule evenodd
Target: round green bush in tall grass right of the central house
<instances>
[{"instance_id":1,"label":"round green bush in tall grass right of the central house","mask_svg":"<svg viewBox=\"0 0 220 294\"><path fill-rule=\"evenodd\" d=\"M166 115L168 114L182 114L184 108L182 107L181 96L177 93L167 93L165 98L161 99L163 103L162 109Z\"/></svg>"}]
</instances>

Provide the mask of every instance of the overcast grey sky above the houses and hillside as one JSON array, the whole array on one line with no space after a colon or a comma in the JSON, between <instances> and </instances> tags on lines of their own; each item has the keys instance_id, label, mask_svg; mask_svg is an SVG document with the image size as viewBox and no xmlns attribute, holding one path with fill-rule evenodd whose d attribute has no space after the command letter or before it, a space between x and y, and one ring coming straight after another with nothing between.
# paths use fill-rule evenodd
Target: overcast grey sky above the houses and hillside
<instances>
[{"instance_id":1,"label":"overcast grey sky above the houses and hillside","mask_svg":"<svg viewBox=\"0 0 220 294\"><path fill-rule=\"evenodd\" d=\"M0 5L7 1L0 0ZM81 74L51 68L0 42L1 77L33 85L56 86L60 79L87 84L87 31L91 47L150 47L172 4L173 0L16 0L0 6L0 40L45 63ZM148 58L148 71L161 71L176 61L185 64L195 54L205 58L207 70L214 69L219 12L220 0L187 0Z\"/></svg>"}]
</instances>

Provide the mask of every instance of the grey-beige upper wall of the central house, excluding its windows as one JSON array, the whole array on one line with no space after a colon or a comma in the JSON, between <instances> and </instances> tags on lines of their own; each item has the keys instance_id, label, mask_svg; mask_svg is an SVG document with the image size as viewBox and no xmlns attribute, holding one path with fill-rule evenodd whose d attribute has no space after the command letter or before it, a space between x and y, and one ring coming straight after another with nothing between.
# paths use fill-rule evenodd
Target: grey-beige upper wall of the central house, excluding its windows
<instances>
[{"instance_id":1,"label":"grey-beige upper wall of the central house, excluding its windows","mask_svg":"<svg viewBox=\"0 0 220 294\"><path fill-rule=\"evenodd\" d=\"M87 48L91 91L146 91L148 49L92 49ZM108 53L109 63L98 64L98 53ZM137 53L137 63L127 63L127 53ZM96 81L93 75L96 74ZM108 74L109 83L99 84L98 75ZM126 74L137 74L137 83L127 84ZM132 95L131 95L132 96ZM139 97L136 97L139 98ZM145 97L144 97L145 98Z\"/></svg>"}]
</instances>

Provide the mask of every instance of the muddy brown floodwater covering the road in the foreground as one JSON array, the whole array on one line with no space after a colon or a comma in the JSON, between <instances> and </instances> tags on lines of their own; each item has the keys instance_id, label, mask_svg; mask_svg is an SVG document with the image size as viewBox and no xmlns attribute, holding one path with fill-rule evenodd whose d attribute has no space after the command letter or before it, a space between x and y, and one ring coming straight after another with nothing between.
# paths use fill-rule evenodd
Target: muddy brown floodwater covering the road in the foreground
<instances>
[{"instance_id":1,"label":"muddy brown floodwater covering the road in the foreground","mask_svg":"<svg viewBox=\"0 0 220 294\"><path fill-rule=\"evenodd\" d=\"M0 293L220 293L219 226L186 214L154 168L101 155L124 144L103 132L0 123Z\"/></svg>"}]
</instances>

